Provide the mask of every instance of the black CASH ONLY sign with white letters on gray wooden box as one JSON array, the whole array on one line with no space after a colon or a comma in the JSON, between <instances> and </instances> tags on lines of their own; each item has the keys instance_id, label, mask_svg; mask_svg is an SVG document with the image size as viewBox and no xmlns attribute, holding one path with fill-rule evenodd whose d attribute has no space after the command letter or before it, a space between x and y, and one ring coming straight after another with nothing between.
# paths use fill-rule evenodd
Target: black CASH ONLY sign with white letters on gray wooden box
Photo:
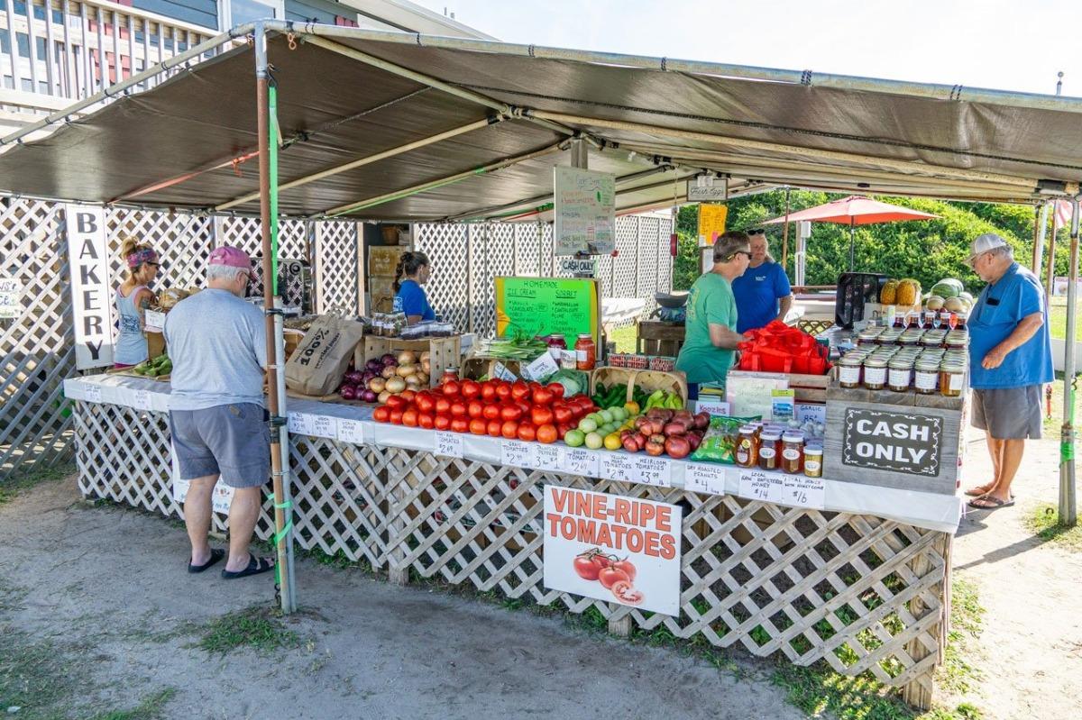
<instances>
[{"instance_id":1,"label":"black CASH ONLY sign with white letters on gray wooden box","mask_svg":"<svg viewBox=\"0 0 1082 720\"><path fill-rule=\"evenodd\" d=\"M942 423L933 415L849 408L842 429L842 463L937 477Z\"/></svg>"}]
</instances>

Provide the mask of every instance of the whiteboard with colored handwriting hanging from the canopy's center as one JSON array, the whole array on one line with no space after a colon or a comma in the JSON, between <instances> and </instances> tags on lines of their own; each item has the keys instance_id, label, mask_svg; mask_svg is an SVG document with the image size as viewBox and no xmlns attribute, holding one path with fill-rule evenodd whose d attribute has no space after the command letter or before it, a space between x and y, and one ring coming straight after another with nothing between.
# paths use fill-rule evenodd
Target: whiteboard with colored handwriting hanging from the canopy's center
<instances>
[{"instance_id":1,"label":"whiteboard with colored handwriting hanging from the canopy's center","mask_svg":"<svg viewBox=\"0 0 1082 720\"><path fill-rule=\"evenodd\" d=\"M616 251L616 175L579 168L553 170L556 255Z\"/></svg>"}]
</instances>

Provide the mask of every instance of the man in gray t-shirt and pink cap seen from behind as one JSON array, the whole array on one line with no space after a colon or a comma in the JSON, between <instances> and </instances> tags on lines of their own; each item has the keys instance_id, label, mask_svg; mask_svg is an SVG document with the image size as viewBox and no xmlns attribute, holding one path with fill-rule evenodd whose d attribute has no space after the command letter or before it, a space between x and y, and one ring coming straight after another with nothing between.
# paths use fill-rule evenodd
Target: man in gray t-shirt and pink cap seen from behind
<instances>
[{"instance_id":1,"label":"man in gray t-shirt and pink cap seen from behind","mask_svg":"<svg viewBox=\"0 0 1082 720\"><path fill-rule=\"evenodd\" d=\"M270 558L248 550L270 476L270 429L263 409L266 325L263 311L243 299L252 268L248 255L222 246L209 262L207 290L166 316L173 363L169 427L181 479L190 482L184 501L192 541L188 572L203 572L225 557L207 538L211 496L221 478L234 489L229 555L222 571L222 577L233 579L274 568Z\"/></svg>"}]
</instances>

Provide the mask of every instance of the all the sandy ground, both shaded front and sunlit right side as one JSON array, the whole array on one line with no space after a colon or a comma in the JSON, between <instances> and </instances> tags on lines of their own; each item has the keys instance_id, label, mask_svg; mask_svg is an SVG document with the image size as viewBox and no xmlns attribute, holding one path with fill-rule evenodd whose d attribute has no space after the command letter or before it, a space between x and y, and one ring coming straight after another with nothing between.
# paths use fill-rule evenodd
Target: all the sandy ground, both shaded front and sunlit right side
<instances>
[{"instance_id":1,"label":"all the sandy ground, both shaded front and sunlit right side","mask_svg":"<svg viewBox=\"0 0 1082 720\"><path fill-rule=\"evenodd\" d=\"M988 611L972 658L984 679L976 693L939 703L966 699L988 718L1082 717L1082 554L1042 544L1024 523L1033 504L1055 502L1057 464L1054 441L1031 443L1017 505L962 522L953 565ZM975 439L966 476L989 468ZM166 688L176 689L169 718L803 717L761 666L718 670L311 561L298 571L308 612L290 622L300 646L208 654L185 624L269 603L270 577L189 576L183 529L83 504L74 479L0 506L0 632L51 642L74 661L79 717L134 707Z\"/></svg>"}]
</instances>

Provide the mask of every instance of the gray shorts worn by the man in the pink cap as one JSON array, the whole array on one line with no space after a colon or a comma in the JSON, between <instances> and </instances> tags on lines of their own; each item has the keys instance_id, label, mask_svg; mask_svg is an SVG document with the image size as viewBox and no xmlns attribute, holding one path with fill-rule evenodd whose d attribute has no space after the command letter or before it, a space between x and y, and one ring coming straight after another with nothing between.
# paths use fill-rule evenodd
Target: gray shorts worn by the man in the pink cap
<instances>
[{"instance_id":1,"label":"gray shorts worn by the man in the pink cap","mask_svg":"<svg viewBox=\"0 0 1082 720\"><path fill-rule=\"evenodd\" d=\"M172 410L169 430L182 480L220 475L230 488L270 479L270 428L262 406L245 402L204 410Z\"/></svg>"}]
</instances>

